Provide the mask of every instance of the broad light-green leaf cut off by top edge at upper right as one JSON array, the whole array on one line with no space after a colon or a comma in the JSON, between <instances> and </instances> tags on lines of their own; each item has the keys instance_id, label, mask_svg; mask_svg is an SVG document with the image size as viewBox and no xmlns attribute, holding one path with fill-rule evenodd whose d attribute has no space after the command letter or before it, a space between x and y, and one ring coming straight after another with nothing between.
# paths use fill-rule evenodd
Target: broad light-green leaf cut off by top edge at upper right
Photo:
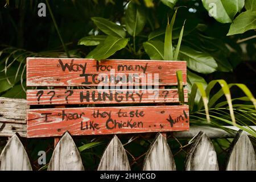
<instances>
[{"instance_id":1,"label":"broad light-green leaf cut off by top edge at upper right","mask_svg":"<svg viewBox=\"0 0 256 182\"><path fill-rule=\"evenodd\" d=\"M242 2L243 1L243 2ZM231 23L244 0L202 0L209 14L220 23Z\"/></svg>"}]
</instances>

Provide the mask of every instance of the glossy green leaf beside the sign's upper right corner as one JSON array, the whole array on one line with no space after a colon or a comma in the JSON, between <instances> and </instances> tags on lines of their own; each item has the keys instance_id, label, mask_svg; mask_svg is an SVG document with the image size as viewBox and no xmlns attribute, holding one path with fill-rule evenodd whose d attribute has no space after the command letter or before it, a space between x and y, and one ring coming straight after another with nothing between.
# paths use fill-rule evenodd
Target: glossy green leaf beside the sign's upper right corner
<instances>
[{"instance_id":1,"label":"glossy green leaf beside the sign's upper right corner","mask_svg":"<svg viewBox=\"0 0 256 182\"><path fill-rule=\"evenodd\" d=\"M199 73L212 73L217 71L217 63L208 53L199 52L187 46L180 47L180 60L187 61L187 67Z\"/></svg>"}]
</instances>

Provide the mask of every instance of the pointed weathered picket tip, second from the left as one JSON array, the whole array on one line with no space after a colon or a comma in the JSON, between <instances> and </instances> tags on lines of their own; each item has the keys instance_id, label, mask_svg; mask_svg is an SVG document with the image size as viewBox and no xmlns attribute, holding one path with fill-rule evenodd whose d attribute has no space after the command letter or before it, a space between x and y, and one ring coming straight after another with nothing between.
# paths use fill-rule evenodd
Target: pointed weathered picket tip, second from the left
<instances>
[{"instance_id":1,"label":"pointed weathered picket tip, second from the left","mask_svg":"<svg viewBox=\"0 0 256 182\"><path fill-rule=\"evenodd\" d=\"M57 143L48 171L84 171L82 159L71 135L66 132Z\"/></svg>"}]
</instances>

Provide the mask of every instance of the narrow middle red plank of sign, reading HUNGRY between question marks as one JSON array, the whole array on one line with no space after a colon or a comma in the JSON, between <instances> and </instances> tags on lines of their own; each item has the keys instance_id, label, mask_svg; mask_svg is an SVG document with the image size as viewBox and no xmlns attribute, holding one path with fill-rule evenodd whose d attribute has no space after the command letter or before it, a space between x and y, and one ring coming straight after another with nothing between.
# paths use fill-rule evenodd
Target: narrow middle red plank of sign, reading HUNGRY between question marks
<instances>
[{"instance_id":1,"label":"narrow middle red plank of sign, reading HUNGRY between question marks","mask_svg":"<svg viewBox=\"0 0 256 182\"><path fill-rule=\"evenodd\" d=\"M185 102L188 91L184 90ZM27 90L28 105L126 104L179 102L177 89L158 90Z\"/></svg>"}]
</instances>

